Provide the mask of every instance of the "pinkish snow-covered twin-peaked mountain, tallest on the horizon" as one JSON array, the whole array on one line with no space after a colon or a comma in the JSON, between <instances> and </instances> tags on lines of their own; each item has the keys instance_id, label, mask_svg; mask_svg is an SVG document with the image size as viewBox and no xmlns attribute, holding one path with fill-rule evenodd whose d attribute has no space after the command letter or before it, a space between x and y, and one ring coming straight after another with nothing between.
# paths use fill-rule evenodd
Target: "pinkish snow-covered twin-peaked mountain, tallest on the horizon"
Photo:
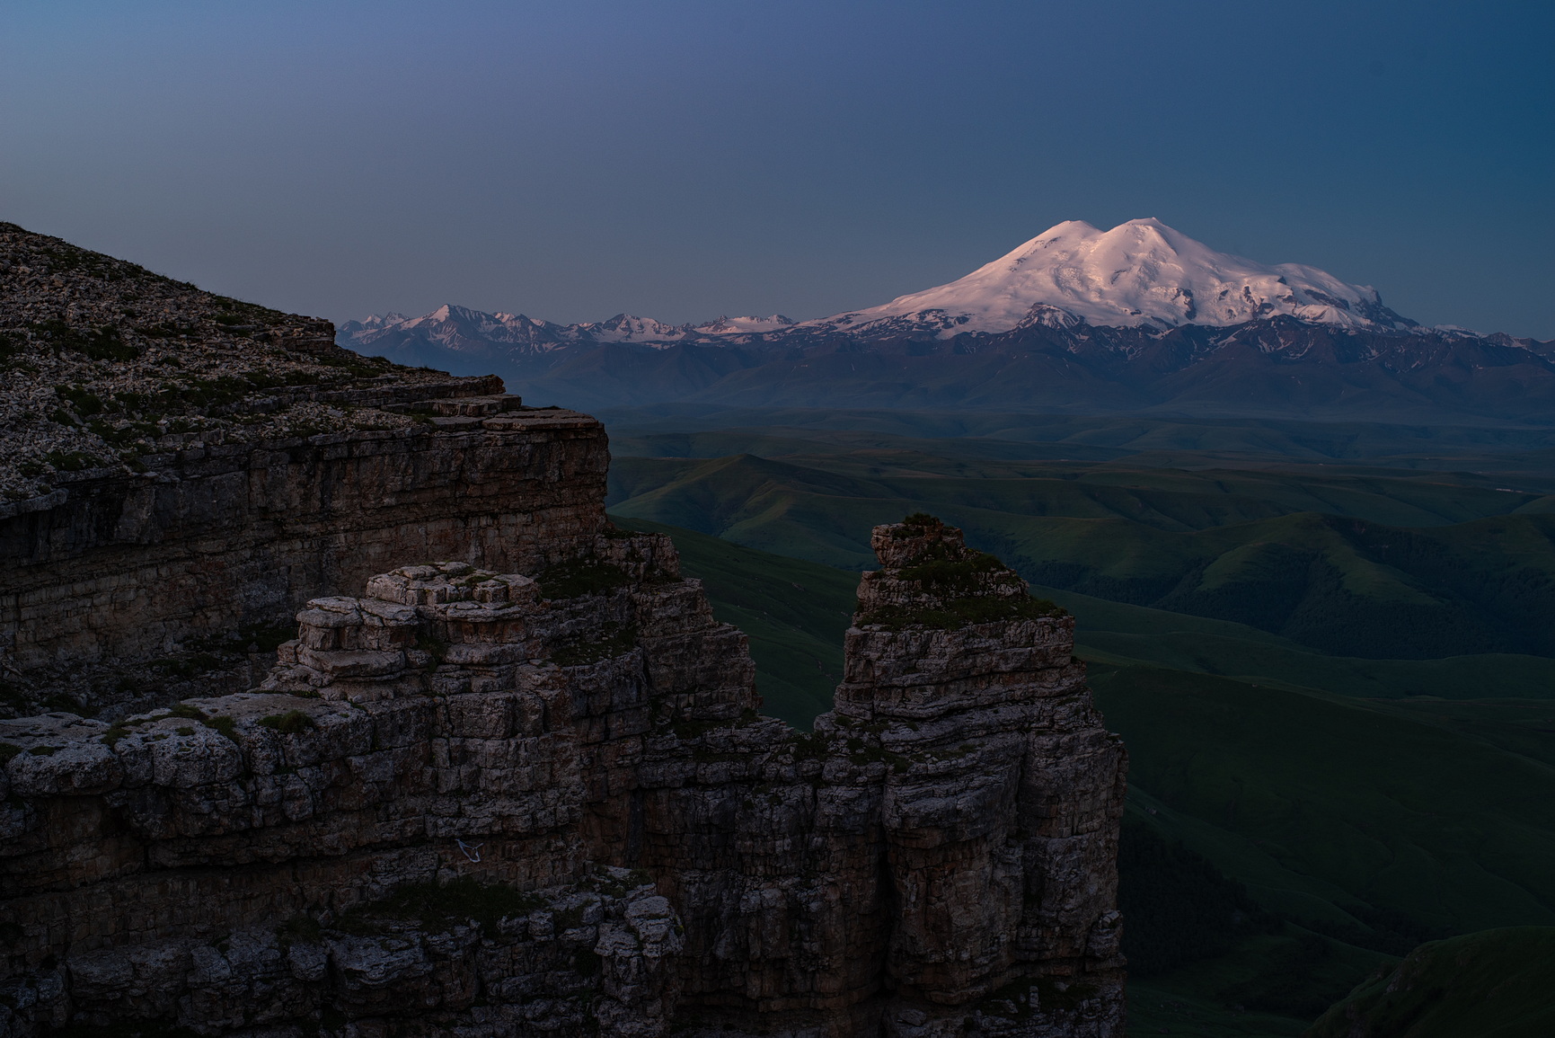
<instances>
[{"instance_id":1,"label":"pinkish snow-covered twin-peaked mountain, tallest on the horizon","mask_svg":"<svg viewBox=\"0 0 1555 1038\"><path fill-rule=\"evenodd\" d=\"M949 285L813 324L860 331L905 319L949 336L1075 319L1113 328L1228 327L1277 314L1353 328L1415 327L1368 285L1347 285L1316 266L1216 252L1152 218L1112 230L1070 219Z\"/></svg>"}]
</instances>

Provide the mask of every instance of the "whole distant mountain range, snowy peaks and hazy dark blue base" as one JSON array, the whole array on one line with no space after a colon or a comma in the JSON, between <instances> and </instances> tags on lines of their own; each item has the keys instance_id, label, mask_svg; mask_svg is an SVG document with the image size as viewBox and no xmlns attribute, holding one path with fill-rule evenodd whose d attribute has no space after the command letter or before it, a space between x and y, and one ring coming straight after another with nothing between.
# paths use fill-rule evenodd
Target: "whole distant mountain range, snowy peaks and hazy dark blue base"
<instances>
[{"instance_id":1,"label":"whole distant mountain range, snowy peaks and hazy dark blue base","mask_svg":"<svg viewBox=\"0 0 1555 1038\"><path fill-rule=\"evenodd\" d=\"M966 277L815 321L552 324L445 305L341 327L362 353L535 403L1171 411L1555 423L1555 342L1423 327L1375 288L1157 219L1057 224Z\"/></svg>"}]
</instances>

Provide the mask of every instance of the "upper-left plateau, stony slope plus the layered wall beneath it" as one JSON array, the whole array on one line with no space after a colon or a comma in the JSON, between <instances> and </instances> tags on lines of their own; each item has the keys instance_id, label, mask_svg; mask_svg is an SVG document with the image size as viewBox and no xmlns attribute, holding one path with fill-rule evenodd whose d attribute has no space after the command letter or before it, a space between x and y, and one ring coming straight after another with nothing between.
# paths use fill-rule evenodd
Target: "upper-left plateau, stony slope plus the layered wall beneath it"
<instances>
[{"instance_id":1,"label":"upper-left plateau, stony slope plus the layered wall beneath it","mask_svg":"<svg viewBox=\"0 0 1555 1038\"><path fill-rule=\"evenodd\" d=\"M594 419L331 339L0 224L0 716L243 689L308 598L600 529Z\"/></svg>"}]
</instances>

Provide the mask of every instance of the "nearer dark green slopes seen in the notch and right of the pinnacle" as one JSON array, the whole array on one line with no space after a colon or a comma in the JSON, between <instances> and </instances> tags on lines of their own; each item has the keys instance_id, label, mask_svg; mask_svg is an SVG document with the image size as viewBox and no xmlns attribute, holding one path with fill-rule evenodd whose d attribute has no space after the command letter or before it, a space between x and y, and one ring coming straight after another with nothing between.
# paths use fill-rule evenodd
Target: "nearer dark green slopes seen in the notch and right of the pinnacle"
<instances>
[{"instance_id":1,"label":"nearer dark green slopes seen in the notch and right of the pinnacle","mask_svg":"<svg viewBox=\"0 0 1555 1038\"><path fill-rule=\"evenodd\" d=\"M675 538L718 618L750 635L767 713L805 727L830 705L854 573L616 521ZM1555 700L1530 697L1549 696L1549 660L1347 660L1227 621L1064 604L1132 755L1123 871L1140 1033L1294 1036L1420 940L1555 924ZM1202 669L1235 661L1281 677ZM1487 665L1521 665L1521 683L1468 685ZM1297 683L1316 672L1319 688ZM1241 921L1172 915L1216 898Z\"/></svg>"}]
</instances>

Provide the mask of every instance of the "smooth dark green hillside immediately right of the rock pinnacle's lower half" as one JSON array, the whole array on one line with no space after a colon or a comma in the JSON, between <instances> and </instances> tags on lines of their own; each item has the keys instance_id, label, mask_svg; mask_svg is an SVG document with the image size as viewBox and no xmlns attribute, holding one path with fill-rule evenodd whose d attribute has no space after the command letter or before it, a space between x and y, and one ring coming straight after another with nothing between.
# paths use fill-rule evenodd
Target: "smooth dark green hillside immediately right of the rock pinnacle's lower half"
<instances>
[{"instance_id":1,"label":"smooth dark green hillside immediately right of the rock pinnacle's lower half","mask_svg":"<svg viewBox=\"0 0 1555 1038\"><path fill-rule=\"evenodd\" d=\"M1550 764L1365 700L1157 668L1092 686L1149 820L1281 917L1362 943L1395 917L1555 924Z\"/></svg>"}]
</instances>

